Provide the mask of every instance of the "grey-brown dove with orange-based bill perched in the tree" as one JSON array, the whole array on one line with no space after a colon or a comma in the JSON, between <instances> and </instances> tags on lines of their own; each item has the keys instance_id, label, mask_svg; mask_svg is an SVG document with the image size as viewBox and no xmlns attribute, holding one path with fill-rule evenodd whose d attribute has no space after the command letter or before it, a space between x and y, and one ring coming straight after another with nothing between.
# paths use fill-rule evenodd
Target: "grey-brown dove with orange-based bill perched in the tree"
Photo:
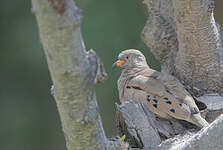
<instances>
[{"instance_id":1,"label":"grey-brown dove with orange-based bill perched in the tree","mask_svg":"<svg viewBox=\"0 0 223 150\"><path fill-rule=\"evenodd\" d=\"M122 51L112 67L122 69L117 82L121 103L139 100L160 118L185 120L199 128L209 125L180 81L151 69L139 50Z\"/></svg>"}]
</instances>

